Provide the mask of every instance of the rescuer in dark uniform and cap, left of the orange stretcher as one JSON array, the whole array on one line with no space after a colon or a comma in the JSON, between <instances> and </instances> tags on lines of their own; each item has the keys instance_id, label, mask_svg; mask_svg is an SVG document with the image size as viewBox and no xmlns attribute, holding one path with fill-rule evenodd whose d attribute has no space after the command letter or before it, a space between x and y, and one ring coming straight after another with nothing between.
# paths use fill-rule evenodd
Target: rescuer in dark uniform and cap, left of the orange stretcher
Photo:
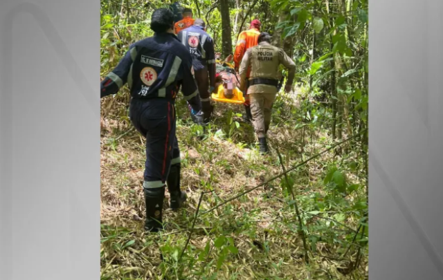
<instances>
[{"instance_id":1,"label":"rescuer in dark uniform and cap, left of the orange stretcher","mask_svg":"<svg viewBox=\"0 0 443 280\"><path fill-rule=\"evenodd\" d=\"M213 106L210 104L210 92L213 91L215 86L214 40L206 33L206 24L202 19L196 19L193 26L181 30L177 37L188 48L192 56L194 77L199 88L204 121L209 122L210 115L213 113Z\"/></svg>"}]
</instances>

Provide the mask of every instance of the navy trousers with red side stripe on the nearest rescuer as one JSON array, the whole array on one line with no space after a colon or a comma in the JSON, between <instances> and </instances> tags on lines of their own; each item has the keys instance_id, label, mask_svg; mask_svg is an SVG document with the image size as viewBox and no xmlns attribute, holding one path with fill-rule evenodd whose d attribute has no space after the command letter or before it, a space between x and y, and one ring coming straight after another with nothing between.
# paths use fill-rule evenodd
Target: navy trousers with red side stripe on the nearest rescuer
<instances>
[{"instance_id":1,"label":"navy trousers with red side stripe on the nearest rescuer","mask_svg":"<svg viewBox=\"0 0 443 280\"><path fill-rule=\"evenodd\" d=\"M180 162L176 113L172 100L132 100L129 118L146 138L145 188L163 187L170 165Z\"/></svg>"}]
</instances>

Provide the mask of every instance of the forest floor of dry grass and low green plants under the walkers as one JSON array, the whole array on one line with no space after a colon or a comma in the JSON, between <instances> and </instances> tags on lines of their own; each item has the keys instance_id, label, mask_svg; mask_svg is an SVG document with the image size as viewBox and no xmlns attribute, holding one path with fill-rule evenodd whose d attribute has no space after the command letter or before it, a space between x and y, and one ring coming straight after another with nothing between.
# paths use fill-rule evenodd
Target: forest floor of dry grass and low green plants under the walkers
<instances>
[{"instance_id":1,"label":"forest floor of dry grass and low green plants under the walkers","mask_svg":"<svg viewBox=\"0 0 443 280\"><path fill-rule=\"evenodd\" d=\"M125 97L109 102L111 113L102 118L101 279L365 279L364 160L353 152L355 140L205 214L281 174L282 164L289 169L333 144L321 124L303 121L300 107L313 101L300 96L297 104L293 96L279 95L269 131L272 152L265 157L257 152L251 124L239 118L239 106L216 104L203 135L179 100L181 187L188 201L172 212L166 191L165 232L159 234L143 231L145 142L125 116Z\"/></svg>"}]
</instances>

